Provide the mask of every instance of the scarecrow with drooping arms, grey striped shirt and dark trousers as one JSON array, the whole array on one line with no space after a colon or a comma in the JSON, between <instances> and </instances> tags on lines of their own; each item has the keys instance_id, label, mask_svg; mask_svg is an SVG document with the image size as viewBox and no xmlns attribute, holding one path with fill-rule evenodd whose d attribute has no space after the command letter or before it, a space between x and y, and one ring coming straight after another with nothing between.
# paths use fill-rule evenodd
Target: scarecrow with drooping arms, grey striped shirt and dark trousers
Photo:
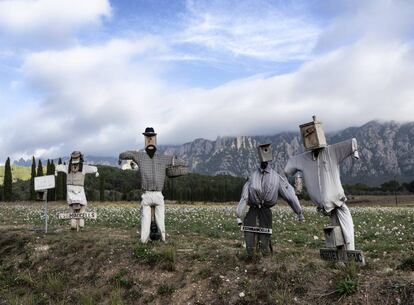
<instances>
[{"instance_id":1,"label":"scarecrow with drooping arms, grey striped shirt and dark trousers","mask_svg":"<svg viewBox=\"0 0 414 305\"><path fill-rule=\"evenodd\" d=\"M270 165L273 160L271 145L259 145L257 149L260 166L252 172L249 180L243 186L242 196L236 211L237 223L242 225L249 257L253 256L257 241L263 255L267 255L272 251L271 207L276 204L278 195L288 202L292 210L298 215L298 220L304 220L295 190ZM246 206L249 206L247 214L244 213Z\"/></svg>"}]
</instances>

